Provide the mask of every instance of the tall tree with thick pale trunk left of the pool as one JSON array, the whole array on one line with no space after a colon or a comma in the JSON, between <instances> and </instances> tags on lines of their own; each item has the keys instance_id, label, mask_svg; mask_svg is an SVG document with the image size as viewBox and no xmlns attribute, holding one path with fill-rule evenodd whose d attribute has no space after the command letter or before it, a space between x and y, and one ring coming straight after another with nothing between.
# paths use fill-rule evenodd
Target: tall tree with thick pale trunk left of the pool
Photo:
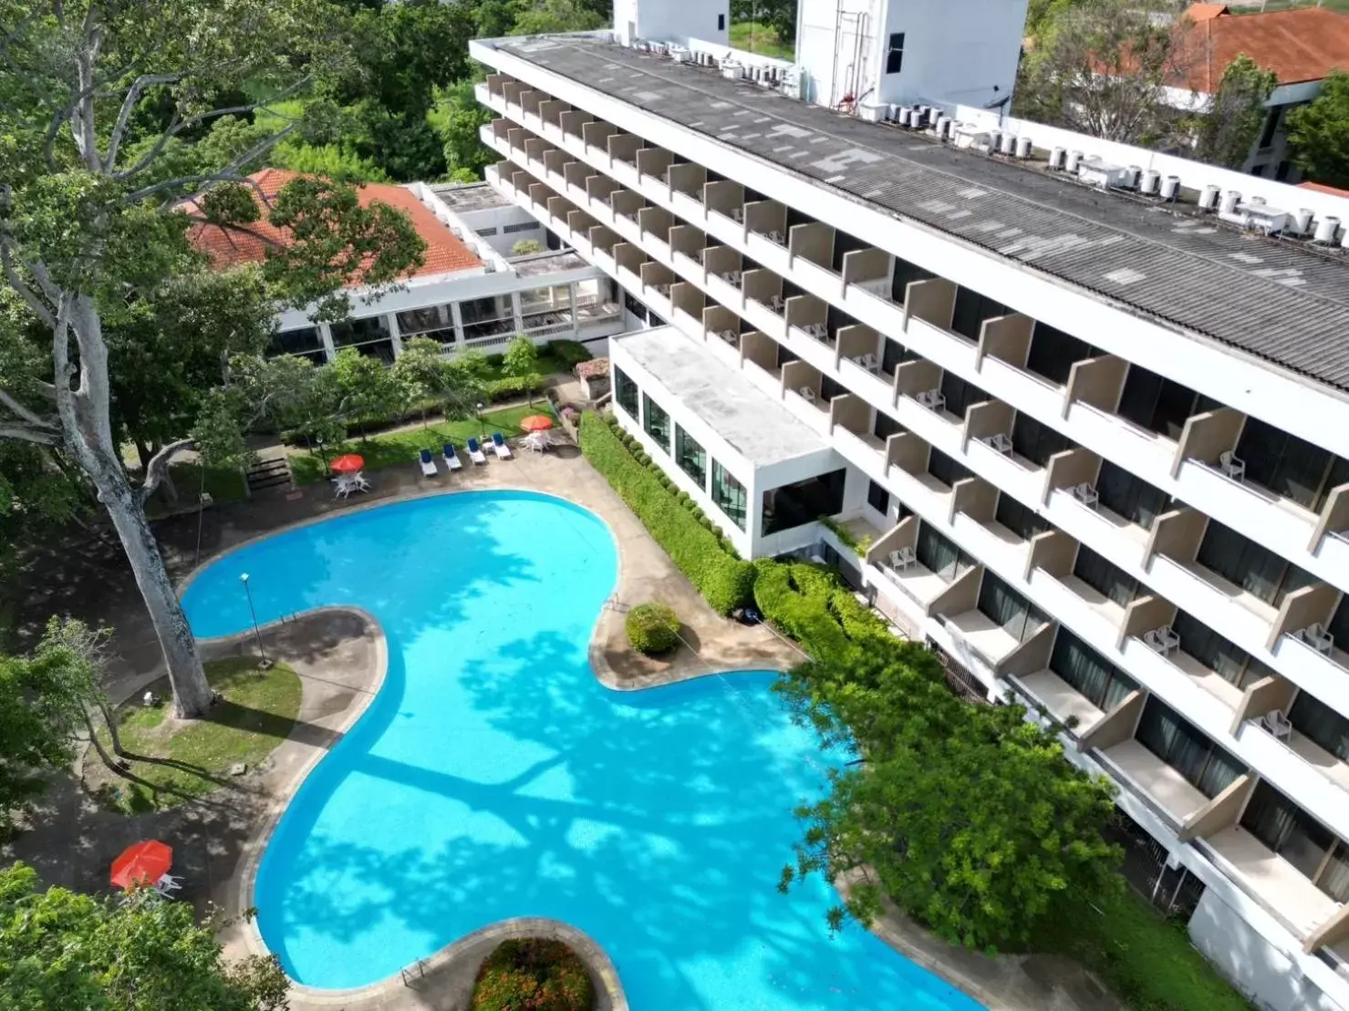
<instances>
[{"instance_id":1,"label":"tall tree with thick pale trunk left of the pool","mask_svg":"<svg viewBox=\"0 0 1349 1011\"><path fill-rule=\"evenodd\" d=\"M266 217L289 231L291 241L263 267L275 307L317 303L321 314L340 314L345 305L333 293L353 272L380 286L420 262L407 220L363 206L348 187L297 179L263 202L243 182L281 137L331 124L322 104L232 158L173 159L166 171L175 151L197 151L202 124L250 112L220 106L217 96L263 85L295 93L340 66L337 15L324 0L0 0L0 270L46 340L45 375L4 377L0 437L61 443L92 483L127 551L183 717L205 710L210 687L143 504L190 442L169 442L144 485L132 487L113 429L116 361L105 318L202 268L188 241L193 218L252 229ZM165 92L167 120L139 115L161 106ZM156 133L138 132L146 120ZM0 332L0 341L20 340Z\"/></svg>"}]
</instances>

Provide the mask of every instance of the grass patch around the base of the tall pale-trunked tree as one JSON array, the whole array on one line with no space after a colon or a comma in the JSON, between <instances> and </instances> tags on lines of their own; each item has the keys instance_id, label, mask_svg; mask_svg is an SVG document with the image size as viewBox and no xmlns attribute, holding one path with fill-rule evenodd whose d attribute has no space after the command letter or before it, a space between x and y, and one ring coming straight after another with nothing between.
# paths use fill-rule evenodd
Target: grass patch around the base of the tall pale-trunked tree
<instances>
[{"instance_id":1,"label":"grass patch around the base of the tall pale-trunked tree","mask_svg":"<svg viewBox=\"0 0 1349 1011\"><path fill-rule=\"evenodd\" d=\"M221 694L205 720L177 724L169 706L147 709L128 702L117 710L123 747L138 755L167 759L171 764L132 763L132 772L150 786L112 775L90 752L85 775L112 807L136 814L171 807L209 794L243 762L250 770L266 759L289 735L299 712L299 675L283 663L258 670L252 658L213 661L206 677ZM155 690L166 696L167 686ZM107 731L100 732L104 747Z\"/></svg>"}]
</instances>

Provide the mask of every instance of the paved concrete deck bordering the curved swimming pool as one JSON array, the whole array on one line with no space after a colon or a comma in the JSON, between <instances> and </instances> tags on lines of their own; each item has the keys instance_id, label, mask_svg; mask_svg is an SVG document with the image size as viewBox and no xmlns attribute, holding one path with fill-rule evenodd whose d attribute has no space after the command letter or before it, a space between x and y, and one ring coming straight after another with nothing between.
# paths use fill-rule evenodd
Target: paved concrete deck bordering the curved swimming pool
<instances>
[{"instance_id":1,"label":"paved concrete deck bordering the curved swimming pool","mask_svg":"<svg viewBox=\"0 0 1349 1011\"><path fill-rule=\"evenodd\" d=\"M156 524L170 572L181 578L206 559L252 538L335 512L447 491L526 488L567 497L603 518L619 546L621 573L614 605L596 624L591 662L596 675L615 689L641 689L712 671L764 670L800 659L793 646L764 627L747 628L714 613L674 569L637 518L604 479L572 448L548 454L519 453L491 460L449 477L425 480L414 465L371 474L370 495L335 501L328 485L286 493L259 495L247 503L210 510L201 518L179 516ZM198 547L200 543L200 547ZM89 550L66 555L49 585L35 593L46 613L61 609L86 620L113 624L123 658L109 685L113 698L128 698L162 677L158 648L140 612L130 573L116 550L96 541ZM115 549L115 543L112 546ZM74 569L74 570L71 570ZM89 600L70 588L84 586ZM61 596L59 603L53 600ZM669 659L634 654L623 635L623 611L660 600L684 620L685 646ZM84 604L81 607L81 604ZM214 906L237 918L251 894L256 860L270 826L313 767L364 710L384 669L383 635L372 619L351 609L310 612L299 620L263 632L267 648L301 675L304 697L295 729L258 770L193 803L138 817L123 817L93 805L71 776L55 783L35 820L35 828L0 857L23 859L42 878L85 891L107 887L105 868L124 845L159 837L174 845L174 871L186 879L185 899L205 911ZM209 658L251 651L251 636L204 644ZM888 914L877 934L911 960L960 987L993 1011L1117 1011L1120 1004L1078 967L1048 956L987 958L932 938L897 913ZM607 956L579 931L554 922L509 921L478 931L426 960L425 975L394 977L362 991L322 993L295 988L290 1004L345 1011L451 1011L467 1007L482 958L500 938L550 933L573 944L591 965L602 991L603 1011L627 1004ZM221 937L231 956L254 950L256 931L235 922ZM642 1008L641 1011L648 1011Z\"/></svg>"}]
</instances>

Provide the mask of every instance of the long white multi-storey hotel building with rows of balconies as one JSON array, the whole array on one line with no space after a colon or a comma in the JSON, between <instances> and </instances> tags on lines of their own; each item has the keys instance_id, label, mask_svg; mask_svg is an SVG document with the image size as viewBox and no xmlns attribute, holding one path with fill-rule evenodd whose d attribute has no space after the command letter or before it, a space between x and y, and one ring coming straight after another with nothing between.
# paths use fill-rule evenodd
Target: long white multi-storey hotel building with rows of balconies
<instances>
[{"instance_id":1,"label":"long white multi-storey hotel building with rows of balconies","mask_svg":"<svg viewBox=\"0 0 1349 1011\"><path fill-rule=\"evenodd\" d=\"M784 96L797 69L631 42L472 43L488 181L650 324L610 341L619 421L746 557L826 555L1054 721L1202 882L1230 977L1349 1008L1337 205L1256 235L1295 190L1210 210L1086 137L866 123Z\"/></svg>"}]
</instances>

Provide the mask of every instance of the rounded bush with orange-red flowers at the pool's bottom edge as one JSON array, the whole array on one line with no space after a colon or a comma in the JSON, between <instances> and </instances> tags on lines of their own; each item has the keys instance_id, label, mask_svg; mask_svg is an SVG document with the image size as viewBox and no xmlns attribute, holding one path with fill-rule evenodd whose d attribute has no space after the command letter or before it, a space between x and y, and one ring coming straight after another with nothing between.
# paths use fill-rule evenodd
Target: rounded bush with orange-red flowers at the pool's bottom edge
<instances>
[{"instance_id":1,"label":"rounded bush with orange-red flowers at the pool's bottom edge","mask_svg":"<svg viewBox=\"0 0 1349 1011\"><path fill-rule=\"evenodd\" d=\"M502 941L473 983L472 1011L591 1011L595 985L561 941Z\"/></svg>"}]
</instances>

